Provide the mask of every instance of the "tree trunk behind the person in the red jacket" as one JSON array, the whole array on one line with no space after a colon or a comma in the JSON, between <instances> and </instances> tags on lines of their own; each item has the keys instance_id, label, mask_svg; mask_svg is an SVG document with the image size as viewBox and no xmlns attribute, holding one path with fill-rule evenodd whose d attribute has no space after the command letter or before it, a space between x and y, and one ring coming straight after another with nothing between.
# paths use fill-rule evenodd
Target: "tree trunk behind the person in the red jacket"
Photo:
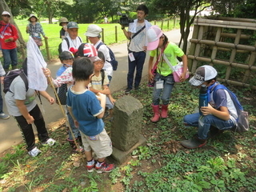
<instances>
[{"instance_id":1,"label":"tree trunk behind the person in the red jacket","mask_svg":"<svg viewBox=\"0 0 256 192\"><path fill-rule=\"evenodd\" d=\"M5 0L1 0L0 1L0 13L2 14L2 11L8 11L11 14L10 8L9 6L7 6L6 1ZM22 38L22 34L20 32L20 30L18 29L18 26L16 25L16 23L14 22L14 18L13 16L10 17L10 23L13 24L14 26L16 26L17 30L18 30L18 40L17 42L17 48L18 51L22 54L22 59L26 58L26 42L23 40Z\"/></svg>"}]
</instances>

